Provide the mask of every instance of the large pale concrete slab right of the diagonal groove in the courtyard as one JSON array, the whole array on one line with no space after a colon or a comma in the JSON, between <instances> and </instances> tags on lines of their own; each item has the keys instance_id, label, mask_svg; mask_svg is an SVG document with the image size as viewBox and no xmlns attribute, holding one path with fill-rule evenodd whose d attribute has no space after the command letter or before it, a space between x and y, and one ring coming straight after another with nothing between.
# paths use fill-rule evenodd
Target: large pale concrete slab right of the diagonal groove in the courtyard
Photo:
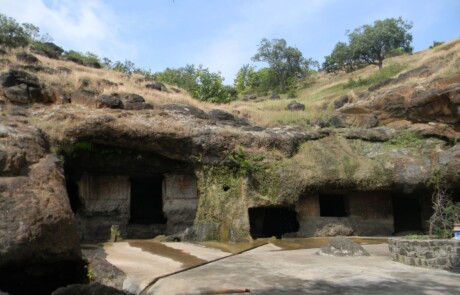
<instances>
[{"instance_id":1,"label":"large pale concrete slab right of the diagonal groove in the courtyard","mask_svg":"<svg viewBox=\"0 0 460 295\"><path fill-rule=\"evenodd\" d=\"M224 294L246 289L267 295L460 294L460 274L393 262L387 245L365 246L370 257L327 257L315 255L316 249L273 251L273 247L163 278L145 294Z\"/></svg>"}]
</instances>

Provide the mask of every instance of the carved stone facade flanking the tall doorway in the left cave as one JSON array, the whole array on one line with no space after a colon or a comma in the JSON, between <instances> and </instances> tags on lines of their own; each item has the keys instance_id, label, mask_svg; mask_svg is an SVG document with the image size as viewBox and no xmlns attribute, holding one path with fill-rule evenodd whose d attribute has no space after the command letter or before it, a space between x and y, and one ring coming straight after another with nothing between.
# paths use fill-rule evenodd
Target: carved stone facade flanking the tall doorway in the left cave
<instances>
[{"instance_id":1,"label":"carved stone facade flanking the tall doorway in the left cave","mask_svg":"<svg viewBox=\"0 0 460 295\"><path fill-rule=\"evenodd\" d=\"M131 219L133 184L129 176L84 173L78 182L80 208L76 214L81 239L107 241L113 225L119 228L122 238L152 238L193 225L198 206L195 177L165 174L162 179L160 211L166 222L139 224ZM151 210L147 207L145 210Z\"/></svg>"}]
</instances>

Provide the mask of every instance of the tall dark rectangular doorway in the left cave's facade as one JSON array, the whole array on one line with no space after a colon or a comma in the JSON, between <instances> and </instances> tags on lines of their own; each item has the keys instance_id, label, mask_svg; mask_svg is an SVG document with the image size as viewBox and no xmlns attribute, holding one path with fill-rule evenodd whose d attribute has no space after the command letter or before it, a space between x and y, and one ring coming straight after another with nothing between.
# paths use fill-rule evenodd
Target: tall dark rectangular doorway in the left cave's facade
<instances>
[{"instance_id":1,"label":"tall dark rectangular doorway in the left cave's facade","mask_svg":"<svg viewBox=\"0 0 460 295\"><path fill-rule=\"evenodd\" d=\"M163 178L131 178L131 215L132 224L165 224L162 196Z\"/></svg>"}]
</instances>

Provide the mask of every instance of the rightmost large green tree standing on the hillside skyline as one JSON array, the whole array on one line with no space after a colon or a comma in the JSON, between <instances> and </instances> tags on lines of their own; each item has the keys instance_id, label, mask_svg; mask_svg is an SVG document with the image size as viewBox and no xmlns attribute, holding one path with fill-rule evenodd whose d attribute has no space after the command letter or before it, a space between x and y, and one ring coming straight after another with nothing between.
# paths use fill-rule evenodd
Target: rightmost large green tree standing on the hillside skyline
<instances>
[{"instance_id":1,"label":"rightmost large green tree standing on the hillside skyline","mask_svg":"<svg viewBox=\"0 0 460 295\"><path fill-rule=\"evenodd\" d=\"M395 49L412 52L412 23L399 18L377 20L373 25L364 25L348 33L353 60L357 63L383 66L383 60Z\"/></svg>"}]
</instances>

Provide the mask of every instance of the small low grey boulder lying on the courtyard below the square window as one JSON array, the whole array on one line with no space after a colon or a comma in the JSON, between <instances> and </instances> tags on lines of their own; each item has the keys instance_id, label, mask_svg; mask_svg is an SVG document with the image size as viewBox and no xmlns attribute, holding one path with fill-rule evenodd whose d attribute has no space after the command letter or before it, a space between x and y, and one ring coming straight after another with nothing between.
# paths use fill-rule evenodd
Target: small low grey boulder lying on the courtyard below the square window
<instances>
[{"instance_id":1,"label":"small low grey boulder lying on the courtyard below the square window","mask_svg":"<svg viewBox=\"0 0 460 295\"><path fill-rule=\"evenodd\" d=\"M333 237L329 243L316 252L317 255L329 256L369 256L369 253L359 244L343 237Z\"/></svg>"}]
</instances>

